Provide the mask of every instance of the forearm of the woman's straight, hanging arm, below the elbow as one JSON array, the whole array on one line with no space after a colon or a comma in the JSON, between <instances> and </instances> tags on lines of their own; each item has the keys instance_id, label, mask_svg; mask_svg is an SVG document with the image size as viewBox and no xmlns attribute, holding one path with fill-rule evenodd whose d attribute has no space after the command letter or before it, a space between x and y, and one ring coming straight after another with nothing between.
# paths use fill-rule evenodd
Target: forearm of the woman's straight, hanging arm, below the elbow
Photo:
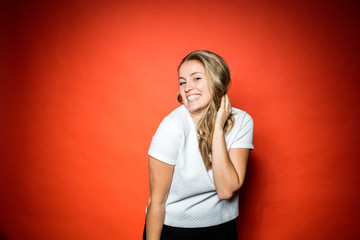
<instances>
[{"instance_id":1,"label":"forearm of the woman's straight, hanging arm, below the elbow","mask_svg":"<svg viewBox=\"0 0 360 240\"><path fill-rule=\"evenodd\" d=\"M164 224L165 204L149 202L146 214L146 239L159 240Z\"/></svg>"}]
</instances>

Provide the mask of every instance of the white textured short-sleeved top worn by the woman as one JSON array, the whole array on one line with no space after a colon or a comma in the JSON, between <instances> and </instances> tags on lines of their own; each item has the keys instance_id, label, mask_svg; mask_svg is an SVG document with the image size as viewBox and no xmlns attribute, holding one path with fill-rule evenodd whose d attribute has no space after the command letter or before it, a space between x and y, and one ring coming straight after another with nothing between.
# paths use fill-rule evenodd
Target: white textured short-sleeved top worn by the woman
<instances>
[{"instance_id":1,"label":"white textured short-sleeved top worn by the woman","mask_svg":"<svg viewBox=\"0 0 360 240\"><path fill-rule=\"evenodd\" d=\"M225 136L227 149L254 149L252 118L236 108L232 112L235 125ZM207 227L238 216L238 193L229 200L219 199L212 171L206 170L198 146L195 122L184 105L164 118L152 139L149 155L175 165L165 206L165 225Z\"/></svg>"}]
</instances>

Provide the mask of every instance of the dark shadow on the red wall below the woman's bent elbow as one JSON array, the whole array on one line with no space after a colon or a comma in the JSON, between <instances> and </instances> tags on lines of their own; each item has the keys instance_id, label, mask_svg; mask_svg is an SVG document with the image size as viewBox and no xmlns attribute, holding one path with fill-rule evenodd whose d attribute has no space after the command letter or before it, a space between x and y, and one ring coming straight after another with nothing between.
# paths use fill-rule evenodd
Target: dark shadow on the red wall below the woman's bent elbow
<instances>
[{"instance_id":1,"label":"dark shadow on the red wall below the woman's bent elbow","mask_svg":"<svg viewBox=\"0 0 360 240\"><path fill-rule=\"evenodd\" d=\"M255 227L259 226L263 216L262 204L256 197L259 193L256 191L266 189L266 176L258 160L256 155L250 154L245 181L239 190L239 216L236 219L239 237L250 235L256 239L258 231Z\"/></svg>"}]
</instances>

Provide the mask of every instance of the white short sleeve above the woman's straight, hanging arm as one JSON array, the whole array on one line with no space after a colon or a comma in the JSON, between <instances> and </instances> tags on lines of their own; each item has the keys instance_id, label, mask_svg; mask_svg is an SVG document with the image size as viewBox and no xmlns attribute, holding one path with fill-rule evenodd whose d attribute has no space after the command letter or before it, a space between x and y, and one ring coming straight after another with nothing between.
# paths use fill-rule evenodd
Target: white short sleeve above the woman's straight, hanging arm
<instances>
[{"instance_id":1,"label":"white short sleeve above the woman's straight, hanging arm","mask_svg":"<svg viewBox=\"0 0 360 240\"><path fill-rule=\"evenodd\" d=\"M181 136L181 131L171 119L164 118L152 138L148 154L167 164L176 165Z\"/></svg>"}]
</instances>

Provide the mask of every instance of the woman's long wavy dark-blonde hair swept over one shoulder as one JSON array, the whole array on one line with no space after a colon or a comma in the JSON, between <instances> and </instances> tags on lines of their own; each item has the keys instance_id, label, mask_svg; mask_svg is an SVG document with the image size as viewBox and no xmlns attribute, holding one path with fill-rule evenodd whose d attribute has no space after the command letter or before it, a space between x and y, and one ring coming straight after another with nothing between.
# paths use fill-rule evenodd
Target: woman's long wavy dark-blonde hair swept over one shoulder
<instances>
[{"instance_id":1,"label":"woman's long wavy dark-blonde hair swept over one shoulder","mask_svg":"<svg viewBox=\"0 0 360 240\"><path fill-rule=\"evenodd\" d=\"M205 167L209 170L212 167L211 152L215 118L221 104L221 98L227 93L231 85L230 70L222 57L207 50L198 50L188 54L181 61L178 70L184 62L190 60L199 61L204 65L209 91L212 96L212 100L207 106L205 114L197 125L199 150ZM177 100L179 103L183 103L179 92ZM235 117L233 113L231 113L224 125L225 134L228 134L231 131L234 123Z\"/></svg>"}]
</instances>

